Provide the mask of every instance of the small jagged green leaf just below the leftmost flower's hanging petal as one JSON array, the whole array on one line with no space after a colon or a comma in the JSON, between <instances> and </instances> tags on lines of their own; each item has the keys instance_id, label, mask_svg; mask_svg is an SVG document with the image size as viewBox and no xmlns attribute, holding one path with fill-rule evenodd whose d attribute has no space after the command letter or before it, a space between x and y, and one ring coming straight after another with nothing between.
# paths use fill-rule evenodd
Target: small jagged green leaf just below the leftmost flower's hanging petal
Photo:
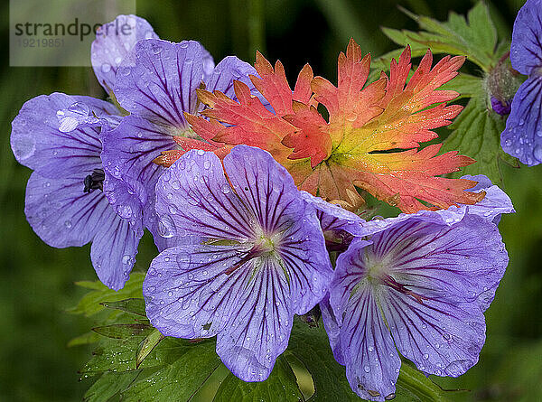
<instances>
[{"instance_id":1,"label":"small jagged green leaf just below the leftmost flower's hanging petal","mask_svg":"<svg viewBox=\"0 0 542 402\"><path fill-rule=\"evenodd\" d=\"M100 303L116 302L131 297L143 298L143 280L145 274L141 272L133 272L126 285L118 292L108 289L101 282L78 282L77 285L92 289L91 292L85 294L79 304L69 310L70 313L84 314L85 316L94 315L104 310L104 306Z\"/></svg>"}]
</instances>

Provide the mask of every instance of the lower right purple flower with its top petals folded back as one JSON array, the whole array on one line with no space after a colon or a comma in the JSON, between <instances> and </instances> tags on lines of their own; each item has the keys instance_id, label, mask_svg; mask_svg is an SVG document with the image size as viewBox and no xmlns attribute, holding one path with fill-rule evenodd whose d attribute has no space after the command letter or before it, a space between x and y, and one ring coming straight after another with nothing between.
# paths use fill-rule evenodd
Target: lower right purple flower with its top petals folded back
<instances>
[{"instance_id":1,"label":"lower right purple flower with its top petals folded back","mask_svg":"<svg viewBox=\"0 0 542 402\"><path fill-rule=\"evenodd\" d=\"M483 312L508 265L494 222L513 211L487 177L465 176L486 197L473 206L421 210L386 220L352 214L305 197L322 226L353 236L338 259L322 316L335 359L360 397L391 398L400 370L397 350L427 374L457 377L478 361Z\"/></svg>"}]
</instances>

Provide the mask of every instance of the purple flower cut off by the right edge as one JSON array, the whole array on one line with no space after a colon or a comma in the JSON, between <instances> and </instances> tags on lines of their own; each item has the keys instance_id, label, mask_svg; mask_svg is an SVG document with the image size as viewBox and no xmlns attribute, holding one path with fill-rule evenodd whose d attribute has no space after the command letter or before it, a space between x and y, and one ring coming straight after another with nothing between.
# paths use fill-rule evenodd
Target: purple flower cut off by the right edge
<instances>
[{"instance_id":1,"label":"purple flower cut off by the right edge","mask_svg":"<svg viewBox=\"0 0 542 402\"><path fill-rule=\"evenodd\" d=\"M542 163L542 0L528 0L519 10L510 61L528 79L512 100L500 145L521 163L533 166Z\"/></svg>"}]
</instances>

